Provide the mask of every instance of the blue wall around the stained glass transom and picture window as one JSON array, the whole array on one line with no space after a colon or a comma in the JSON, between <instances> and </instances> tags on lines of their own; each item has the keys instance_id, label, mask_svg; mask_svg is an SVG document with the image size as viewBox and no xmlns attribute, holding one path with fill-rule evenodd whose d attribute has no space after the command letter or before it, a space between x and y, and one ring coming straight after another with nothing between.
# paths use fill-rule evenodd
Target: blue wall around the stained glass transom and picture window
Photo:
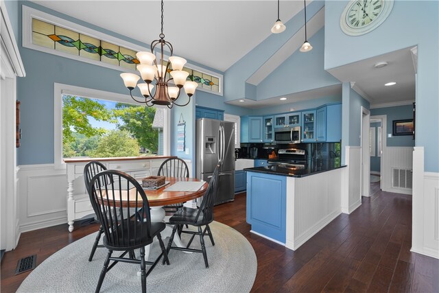
<instances>
[{"instance_id":1,"label":"blue wall around the stained glass transom and picture window","mask_svg":"<svg viewBox=\"0 0 439 293\"><path fill-rule=\"evenodd\" d=\"M19 44L21 58L23 59L27 73L25 78L17 79L17 99L21 101L21 128L23 131L17 163L19 165L54 163L54 82L121 93L124 95L126 95L128 91L125 86L123 86L123 82L119 76L120 71L21 47L21 4L25 3L25 5L29 7L90 27L93 30L115 36L116 38L141 45L145 48L150 47L150 45L141 43L138 40L126 38L125 36L115 34L101 27L85 23L84 21L73 19L67 15L49 10L29 1L7 2L8 15L10 16L16 39L19 40L17 43ZM191 62L190 60L188 60L188 62L203 67L196 62ZM215 71L215 69L209 67L204 68ZM222 74L220 71L215 72ZM140 93L137 93L137 95L140 96ZM211 101L213 100L224 100L221 96L201 91L197 91L197 96L197 102L201 104L204 104L204 99L208 100L209 102L206 103L209 104L212 104ZM222 105L222 108L229 109L230 112L240 115L240 107L224 105L222 102L219 102L215 106L219 108L220 105ZM192 106L192 108L193 107L194 106ZM189 110L185 109L184 111ZM243 112L245 113L245 111ZM175 121L175 119L178 121L180 116L178 110L173 113L178 115L178 117L172 117L171 121ZM187 133L191 136L195 129L194 117L193 115L189 115L189 113L185 113L187 117L185 119L190 127L189 129L187 128ZM188 139L193 141L192 137ZM191 144L193 144L193 142L189 143L189 145ZM171 148L171 150L176 150L176 148ZM191 146L189 150L190 154L188 159L191 159L194 156L195 150Z\"/></svg>"}]
</instances>

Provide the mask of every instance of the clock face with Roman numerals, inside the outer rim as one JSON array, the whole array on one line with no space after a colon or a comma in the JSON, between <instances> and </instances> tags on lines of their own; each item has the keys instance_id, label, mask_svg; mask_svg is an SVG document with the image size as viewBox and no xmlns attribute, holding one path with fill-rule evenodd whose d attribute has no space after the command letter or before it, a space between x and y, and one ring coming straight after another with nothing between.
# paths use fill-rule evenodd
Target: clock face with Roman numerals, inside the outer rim
<instances>
[{"instance_id":1,"label":"clock face with Roman numerals, inside the outer rim","mask_svg":"<svg viewBox=\"0 0 439 293\"><path fill-rule=\"evenodd\" d=\"M349 8L345 21L349 27L365 27L375 21L382 11L381 0L358 0Z\"/></svg>"}]
</instances>

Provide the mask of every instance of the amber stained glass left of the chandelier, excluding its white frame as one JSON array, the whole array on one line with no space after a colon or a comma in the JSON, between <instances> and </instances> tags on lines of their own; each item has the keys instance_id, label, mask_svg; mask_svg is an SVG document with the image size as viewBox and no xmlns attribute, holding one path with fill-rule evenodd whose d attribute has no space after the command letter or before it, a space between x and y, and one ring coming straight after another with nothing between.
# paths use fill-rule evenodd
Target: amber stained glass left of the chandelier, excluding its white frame
<instances>
[{"instance_id":1,"label":"amber stained glass left of the chandelier, excluding its white frame","mask_svg":"<svg viewBox=\"0 0 439 293\"><path fill-rule=\"evenodd\" d=\"M136 51L32 19L32 43L56 51L136 70Z\"/></svg>"}]
</instances>

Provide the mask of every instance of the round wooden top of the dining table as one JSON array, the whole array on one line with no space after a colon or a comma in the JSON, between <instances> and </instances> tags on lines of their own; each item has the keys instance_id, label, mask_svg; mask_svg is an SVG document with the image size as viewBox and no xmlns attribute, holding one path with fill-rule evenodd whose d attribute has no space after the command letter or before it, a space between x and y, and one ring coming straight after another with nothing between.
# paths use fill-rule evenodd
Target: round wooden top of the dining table
<instances>
[{"instance_id":1,"label":"round wooden top of the dining table","mask_svg":"<svg viewBox=\"0 0 439 293\"><path fill-rule=\"evenodd\" d=\"M166 177L166 181L169 181L169 184L158 188L158 189L143 189L145 191L145 195L150 203L150 207L160 207L168 204L176 204L179 202L186 202L188 200L193 200L195 198L199 198L203 196L206 192L209 183L204 183L200 189L197 191L165 191L167 187L170 187L179 181L201 181L197 178L178 178L178 177ZM130 198L130 207L134 207L134 202L136 202L136 188L129 189L129 194L127 190L122 190L122 207L128 207L128 197ZM106 198L106 196L103 196ZM119 196L117 196L119 198ZM138 206L141 207L142 200L139 196Z\"/></svg>"}]
</instances>

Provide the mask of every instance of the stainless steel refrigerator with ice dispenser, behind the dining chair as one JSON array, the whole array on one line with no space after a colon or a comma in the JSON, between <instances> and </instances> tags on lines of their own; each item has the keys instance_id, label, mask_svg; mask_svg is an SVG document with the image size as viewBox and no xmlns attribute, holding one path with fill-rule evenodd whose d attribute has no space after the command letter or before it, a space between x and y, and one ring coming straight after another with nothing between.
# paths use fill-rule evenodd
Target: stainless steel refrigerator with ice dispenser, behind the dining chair
<instances>
[{"instance_id":1,"label":"stainless steel refrigerator with ice dispenser, behind the dining chair","mask_svg":"<svg viewBox=\"0 0 439 293\"><path fill-rule=\"evenodd\" d=\"M235 200L235 123L201 118L196 121L195 129L197 178L209 182L215 166L222 160L215 204Z\"/></svg>"}]
</instances>

